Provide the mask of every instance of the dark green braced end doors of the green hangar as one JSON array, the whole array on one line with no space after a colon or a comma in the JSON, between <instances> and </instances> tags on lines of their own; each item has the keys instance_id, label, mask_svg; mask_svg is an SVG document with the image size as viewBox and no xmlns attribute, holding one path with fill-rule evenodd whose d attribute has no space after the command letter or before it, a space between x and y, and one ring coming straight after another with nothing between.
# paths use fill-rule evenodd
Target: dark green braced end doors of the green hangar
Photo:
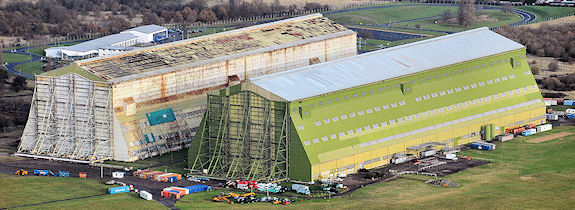
<instances>
[{"instance_id":1,"label":"dark green braced end doors of the green hangar","mask_svg":"<svg viewBox=\"0 0 575 210\"><path fill-rule=\"evenodd\" d=\"M287 106L250 91L208 95L192 171L225 179L287 179Z\"/></svg>"}]
</instances>

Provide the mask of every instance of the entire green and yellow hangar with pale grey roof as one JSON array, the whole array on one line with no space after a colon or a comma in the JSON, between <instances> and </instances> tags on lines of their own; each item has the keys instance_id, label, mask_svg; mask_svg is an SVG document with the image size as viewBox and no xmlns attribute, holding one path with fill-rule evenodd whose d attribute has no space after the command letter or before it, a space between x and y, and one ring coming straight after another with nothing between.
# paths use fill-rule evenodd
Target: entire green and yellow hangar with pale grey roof
<instances>
[{"instance_id":1,"label":"entire green and yellow hangar with pale grey roof","mask_svg":"<svg viewBox=\"0 0 575 210\"><path fill-rule=\"evenodd\" d=\"M208 94L189 167L311 181L542 124L525 54L480 28L252 78Z\"/></svg>"}]
</instances>

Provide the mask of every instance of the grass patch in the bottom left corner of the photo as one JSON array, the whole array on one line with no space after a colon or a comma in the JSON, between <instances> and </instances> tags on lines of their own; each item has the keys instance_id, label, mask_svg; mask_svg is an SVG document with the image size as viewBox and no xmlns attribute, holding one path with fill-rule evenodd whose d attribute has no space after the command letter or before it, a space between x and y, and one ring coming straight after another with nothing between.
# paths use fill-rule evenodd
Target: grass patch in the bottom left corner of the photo
<instances>
[{"instance_id":1,"label":"grass patch in the bottom left corner of the photo","mask_svg":"<svg viewBox=\"0 0 575 210\"><path fill-rule=\"evenodd\" d=\"M104 184L94 179L0 175L0 208L30 205L83 196L106 194ZM25 207L25 209L162 209L155 201L144 201L136 193L102 195Z\"/></svg>"}]
</instances>

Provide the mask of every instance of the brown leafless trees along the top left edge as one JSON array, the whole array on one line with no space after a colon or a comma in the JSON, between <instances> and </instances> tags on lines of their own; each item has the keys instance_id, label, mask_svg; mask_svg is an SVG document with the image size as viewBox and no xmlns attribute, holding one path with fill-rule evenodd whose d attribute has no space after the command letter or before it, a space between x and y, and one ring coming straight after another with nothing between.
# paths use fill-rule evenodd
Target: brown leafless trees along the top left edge
<instances>
[{"instance_id":1,"label":"brown leafless trees along the top left edge","mask_svg":"<svg viewBox=\"0 0 575 210\"><path fill-rule=\"evenodd\" d=\"M141 15L143 24L213 22L298 10L325 9L307 3L304 8L281 5L278 0L229 0L208 7L206 0L39 0L15 2L0 7L0 35L32 39L42 35L79 36L86 33L117 33L130 27ZM109 13L109 15L103 15ZM84 17L95 21L86 23Z\"/></svg>"}]
</instances>

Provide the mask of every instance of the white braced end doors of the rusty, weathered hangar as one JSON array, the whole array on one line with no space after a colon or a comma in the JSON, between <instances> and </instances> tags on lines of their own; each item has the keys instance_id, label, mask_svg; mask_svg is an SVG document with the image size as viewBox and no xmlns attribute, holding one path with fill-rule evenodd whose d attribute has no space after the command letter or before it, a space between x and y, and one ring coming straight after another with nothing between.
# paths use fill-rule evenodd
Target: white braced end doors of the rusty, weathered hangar
<instances>
[{"instance_id":1,"label":"white braced end doors of the rusty, weathered hangar","mask_svg":"<svg viewBox=\"0 0 575 210\"><path fill-rule=\"evenodd\" d=\"M112 157L112 92L77 74L37 77L17 155L101 161Z\"/></svg>"}]
</instances>

